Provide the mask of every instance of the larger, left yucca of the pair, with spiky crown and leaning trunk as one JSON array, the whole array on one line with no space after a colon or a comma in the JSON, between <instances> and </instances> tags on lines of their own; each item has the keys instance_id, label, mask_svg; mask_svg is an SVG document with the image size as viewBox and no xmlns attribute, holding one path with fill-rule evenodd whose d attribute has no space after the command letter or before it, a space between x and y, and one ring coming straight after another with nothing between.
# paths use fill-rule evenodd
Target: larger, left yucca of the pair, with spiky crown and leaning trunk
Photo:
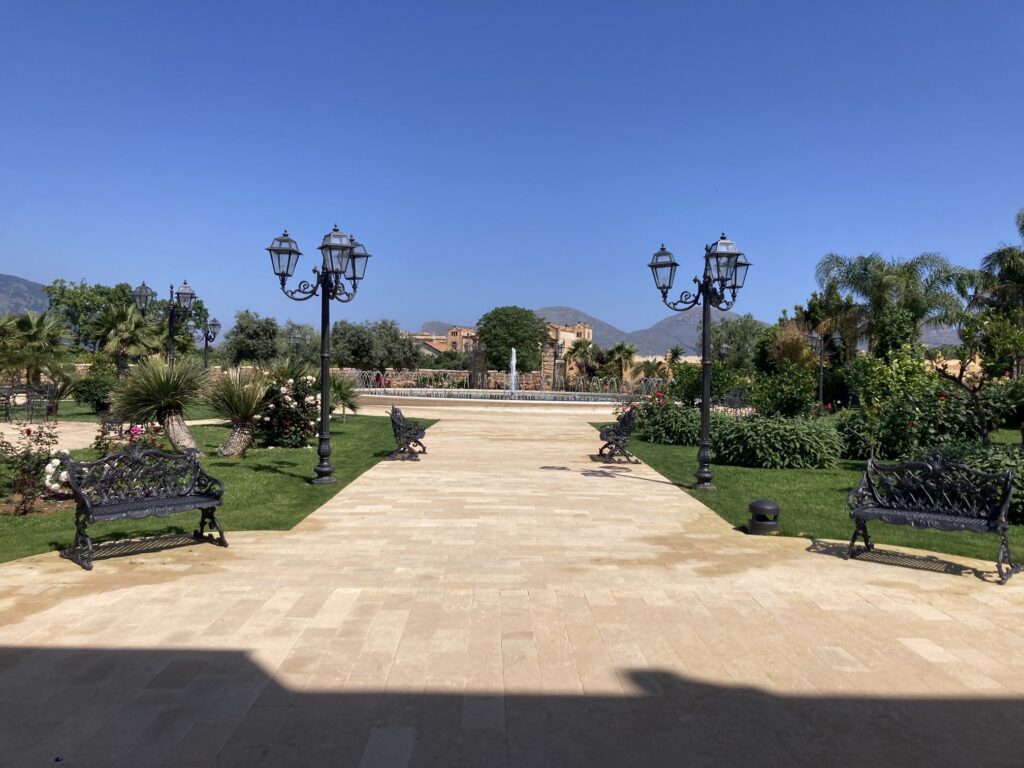
<instances>
[{"instance_id":1,"label":"larger, left yucca of the pair, with spiky crown and leaning trunk","mask_svg":"<svg viewBox=\"0 0 1024 768\"><path fill-rule=\"evenodd\" d=\"M133 422L159 422L177 451L198 451L182 414L203 398L208 381L202 366L187 357L176 361L174 368L150 357L114 388L112 408Z\"/></svg>"}]
</instances>

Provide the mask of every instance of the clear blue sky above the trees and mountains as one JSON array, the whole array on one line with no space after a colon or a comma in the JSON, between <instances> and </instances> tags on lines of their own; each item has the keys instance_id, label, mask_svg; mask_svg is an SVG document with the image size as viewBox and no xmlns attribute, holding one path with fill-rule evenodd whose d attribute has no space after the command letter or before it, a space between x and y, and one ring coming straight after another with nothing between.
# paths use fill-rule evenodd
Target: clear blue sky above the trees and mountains
<instances>
[{"instance_id":1,"label":"clear blue sky above the trees and mountains","mask_svg":"<svg viewBox=\"0 0 1024 768\"><path fill-rule=\"evenodd\" d=\"M318 323L263 250L374 258L332 318L668 316L728 232L774 319L828 251L1018 241L1024 3L4 0L0 271Z\"/></svg>"}]
</instances>

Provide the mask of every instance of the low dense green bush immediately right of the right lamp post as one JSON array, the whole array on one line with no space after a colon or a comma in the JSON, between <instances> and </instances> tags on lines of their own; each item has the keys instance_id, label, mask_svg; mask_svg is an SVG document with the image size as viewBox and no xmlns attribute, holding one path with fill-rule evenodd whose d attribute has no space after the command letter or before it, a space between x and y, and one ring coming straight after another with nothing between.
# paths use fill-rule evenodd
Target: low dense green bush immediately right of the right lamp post
<instances>
[{"instance_id":1,"label":"low dense green bush immediately right of the right lamp post","mask_svg":"<svg viewBox=\"0 0 1024 768\"><path fill-rule=\"evenodd\" d=\"M719 425L715 457L720 464L763 469L816 469L839 461L843 441L829 419L768 417Z\"/></svg>"}]
</instances>

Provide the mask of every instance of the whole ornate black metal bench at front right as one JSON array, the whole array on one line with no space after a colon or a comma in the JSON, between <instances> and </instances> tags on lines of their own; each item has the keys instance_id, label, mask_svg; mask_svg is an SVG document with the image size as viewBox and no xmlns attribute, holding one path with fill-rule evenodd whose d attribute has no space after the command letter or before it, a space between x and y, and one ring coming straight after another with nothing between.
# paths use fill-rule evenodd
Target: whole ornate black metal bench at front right
<instances>
[{"instance_id":1,"label":"whole ornate black metal bench at front right","mask_svg":"<svg viewBox=\"0 0 1024 768\"><path fill-rule=\"evenodd\" d=\"M847 499L854 530L846 556L857 554L857 537L864 540L865 552L873 548L867 534L868 520L915 528L998 534L1002 541L995 569L1005 584L1024 569L1014 562L1007 539L1012 477L1013 469L988 474L947 462L940 455L928 461L894 465L869 459L860 485Z\"/></svg>"}]
</instances>

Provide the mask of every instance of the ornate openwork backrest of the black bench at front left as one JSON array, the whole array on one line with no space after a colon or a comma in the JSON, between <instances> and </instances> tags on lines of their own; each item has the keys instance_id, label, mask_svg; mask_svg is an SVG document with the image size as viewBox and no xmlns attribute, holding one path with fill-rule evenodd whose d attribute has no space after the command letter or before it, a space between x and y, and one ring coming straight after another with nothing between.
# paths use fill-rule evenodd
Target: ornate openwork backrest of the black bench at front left
<instances>
[{"instance_id":1,"label":"ornate openwork backrest of the black bench at front left","mask_svg":"<svg viewBox=\"0 0 1024 768\"><path fill-rule=\"evenodd\" d=\"M90 508L198 493L220 496L220 483L202 470L194 450L169 454L129 445L96 461L79 462L68 458L66 464L68 484L75 498Z\"/></svg>"}]
</instances>

